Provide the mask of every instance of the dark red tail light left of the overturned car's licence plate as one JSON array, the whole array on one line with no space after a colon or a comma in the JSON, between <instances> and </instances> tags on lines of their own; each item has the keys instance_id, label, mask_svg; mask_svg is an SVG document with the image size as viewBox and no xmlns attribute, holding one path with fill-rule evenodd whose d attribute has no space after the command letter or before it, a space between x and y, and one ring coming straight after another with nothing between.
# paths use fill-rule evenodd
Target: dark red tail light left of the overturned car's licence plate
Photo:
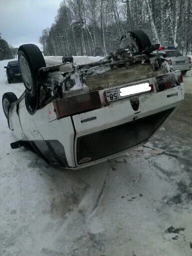
<instances>
[{"instance_id":1,"label":"dark red tail light left of the overturned car's licence plate","mask_svg":"<svg viewBox=\"0 0 192 256\"><path fill-rule=\"evenodd\" d=\"M53 100L57 119L100 108L98 90Z\"/></svg>"}]
</instances>

